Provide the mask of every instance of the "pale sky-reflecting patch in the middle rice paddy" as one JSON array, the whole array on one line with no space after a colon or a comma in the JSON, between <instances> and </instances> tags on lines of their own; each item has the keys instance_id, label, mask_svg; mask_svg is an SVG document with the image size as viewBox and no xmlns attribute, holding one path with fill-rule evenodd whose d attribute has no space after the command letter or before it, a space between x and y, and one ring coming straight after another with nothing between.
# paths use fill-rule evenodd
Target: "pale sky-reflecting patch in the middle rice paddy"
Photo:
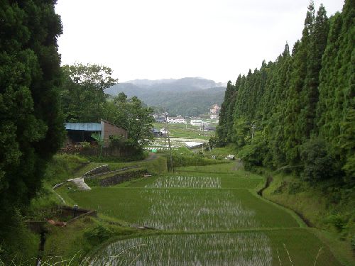
<instances>
[{"instance_id":1,"label":"pale sky-reflecting patch in the middle rice paddy","mask_svg":"<svg viewBox=\"0 0 355 266\"><path fill-rule=\"evenodd\" d=\"M255 228L255 211L246 209L229 191L216 195L209 189L143 189L150 202L145 226L160 230L212 231Z\"/></svg>"}]
</instances>

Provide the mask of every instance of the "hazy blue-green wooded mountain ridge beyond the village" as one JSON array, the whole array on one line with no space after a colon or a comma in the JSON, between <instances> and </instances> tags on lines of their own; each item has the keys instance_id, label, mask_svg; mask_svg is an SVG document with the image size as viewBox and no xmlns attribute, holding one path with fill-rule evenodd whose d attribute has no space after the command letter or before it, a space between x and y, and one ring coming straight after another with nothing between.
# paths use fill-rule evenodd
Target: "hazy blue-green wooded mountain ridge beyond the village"
<instances>
[{"instance_id":1,"label":"hazy blue-green wooded mountain ridge beyond the village","mask_svg":"<svg viewBox=\"0 0 355 266\"><path fill-rule=\"evenodd\" d=\"M106 93L116 96L124 92L137 96L148 106L166 107L173 115L197 116L206 113L212 104L222 104L224 84L200 77L182 79L135 79L116 84Z\"/></svg>"}]
</instances>

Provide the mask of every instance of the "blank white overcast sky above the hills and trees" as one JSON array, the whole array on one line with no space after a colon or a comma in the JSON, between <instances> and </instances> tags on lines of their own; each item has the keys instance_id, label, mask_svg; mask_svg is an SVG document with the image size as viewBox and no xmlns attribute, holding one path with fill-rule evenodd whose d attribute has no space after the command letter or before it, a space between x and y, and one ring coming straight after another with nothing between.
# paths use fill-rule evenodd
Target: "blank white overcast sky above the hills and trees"
<instances>
[{"instance_id":1,"label":"blank white overcast sky above the hills and trees","mask_svg":"<svg viewBox=\"0 0 355 266\"><path fill-rule=\"evenodd\" d=\"M343 0L315 0L330 16ZM236 80L302 35L309 0L58 0L62 65L106 65L119 82Z\"/></svg>"}]
</instances>

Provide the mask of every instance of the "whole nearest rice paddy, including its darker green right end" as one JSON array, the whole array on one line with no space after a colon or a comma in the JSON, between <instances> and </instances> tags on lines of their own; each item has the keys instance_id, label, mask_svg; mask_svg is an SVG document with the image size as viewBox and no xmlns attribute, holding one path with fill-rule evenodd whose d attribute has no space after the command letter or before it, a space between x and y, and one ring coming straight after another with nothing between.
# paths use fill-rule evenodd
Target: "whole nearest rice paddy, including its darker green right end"
<instances>
[{"instance_id":1,"label":"whole nearest rice paddy, including its darker green right end","mask_svg":"<svg viewBox=\"0 0 355 266\"><path fill-rule=\"evenodd\" d=\"M307 229L151 235L119 240L94 255L97 265L340 266Z\"/></svg>"}]
</instances>

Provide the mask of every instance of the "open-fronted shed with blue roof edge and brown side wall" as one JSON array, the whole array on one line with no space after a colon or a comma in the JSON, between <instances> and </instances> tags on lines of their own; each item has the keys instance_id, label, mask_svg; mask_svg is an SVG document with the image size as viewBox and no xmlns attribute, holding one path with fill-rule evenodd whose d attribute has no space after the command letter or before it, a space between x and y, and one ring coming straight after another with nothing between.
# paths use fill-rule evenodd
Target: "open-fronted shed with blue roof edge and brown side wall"
<instances>
[{"instance_id":1,"label":"open-fronted shed with blue roof edge and brown side wall","mask_svg":"<svg viewBox=\"0 0 355 266\"><path fill-rule=\"evenodd\" d=\"M87 141L94 142L92 133L100 135L104 140L104 147L109 146L109 140L112 136L122 136L127 139L128 133L126 129L101 119L100 123L65 123L65 130L67 131L67 144L80 143Z\"/></svg>"}]
</instances>

